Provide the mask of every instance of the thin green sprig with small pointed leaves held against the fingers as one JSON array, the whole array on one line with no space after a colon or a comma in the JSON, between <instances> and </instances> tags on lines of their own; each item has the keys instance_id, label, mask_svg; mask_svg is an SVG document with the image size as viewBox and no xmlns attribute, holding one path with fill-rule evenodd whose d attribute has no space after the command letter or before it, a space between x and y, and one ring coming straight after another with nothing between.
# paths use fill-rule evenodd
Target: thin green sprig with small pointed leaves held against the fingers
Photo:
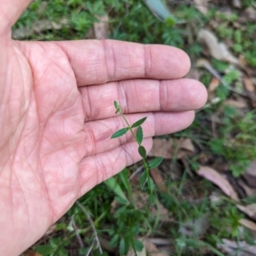
<instances>
[{"instance_id":1,"label":"thin green sprig with small pointed leaves held against the fingers","mask_svg":"<svg viewBox=\"0 0 256 256\"><path fill-rule=\"evenodd\" d=\"M143 158L143 166L144 166L145 172L143 172L143 174L141 175L139 183L140 183L141 189L146 190L146 191L148 190L148 192L149 192L148 200L149 200L150 204L153 205L154 204L154 182L149 175L149 170L159 166L161 161L163 160L163 158L156 157L153 160L150 160L148 163L146 161L147 151L142 145L142 143L143 143L142 125L147 118L145 117L143 119L139 119L133 125L130 125L128 123L127 119L125 118L125 115L122 112L122 110L119 106L119 103L114 101L113 105L114 105L114 108L116 109L115 113L119 113L121 115L121 117L125 120L125 123L127 126L125 128L120 129L119 131L116 131L115 133L113 133L113 136L111 138L121 137L121 136L125 135L125 133L127 131L131 131L132 136L134 137L134 139L136 140L136 142L138 144L138 153ZM136 134L133 131L134 128L137 128Z\"/></svg>"}]
</instances>

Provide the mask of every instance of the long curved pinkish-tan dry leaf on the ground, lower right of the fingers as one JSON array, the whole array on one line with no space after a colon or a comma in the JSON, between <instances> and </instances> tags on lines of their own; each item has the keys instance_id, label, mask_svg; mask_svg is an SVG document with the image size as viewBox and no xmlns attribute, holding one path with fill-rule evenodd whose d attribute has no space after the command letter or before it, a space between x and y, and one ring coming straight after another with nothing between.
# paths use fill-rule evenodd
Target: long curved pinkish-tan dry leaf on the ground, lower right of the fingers
<instances>
[{"instance_id":1,"label":"long curved pinkish-tan dry leaf on the ground, lower right of the fingers","mask_svg":"<svg viewBox=\"0 0 256 256\"><path fill-rule=\"evenodd\" d=\"M231 199L238 201L236 191L233 189L230 183L216 170L208 166L201 166L197 174L199 174L201 177L205 177L207 180L217 185L218 188L221 189L224 194L228 195Z\"/></svg>"}]
</instances>

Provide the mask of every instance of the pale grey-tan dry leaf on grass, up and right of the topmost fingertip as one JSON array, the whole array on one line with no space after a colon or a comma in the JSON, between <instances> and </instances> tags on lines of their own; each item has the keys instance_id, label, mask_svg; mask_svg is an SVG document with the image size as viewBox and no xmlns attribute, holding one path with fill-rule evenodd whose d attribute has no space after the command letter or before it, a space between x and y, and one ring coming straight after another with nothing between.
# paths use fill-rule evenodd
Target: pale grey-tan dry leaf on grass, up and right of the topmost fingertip
<instances>
[{"instance_id":1,"label":"pale grey-tan dry leaf on grass, up and right of the topmost fingertip","mask_svg":"<svg viewBox=\"0 0 256 256\"><path fill-rule=\"evenodd\" d=\"M224 43L218 43L218 38L209 30L201 29L198 33L198 39L202 44L207 45L210 55L218 61L228 61L231 64L239 64L238 59L230 53Z\"/></svg>"}]
</instances>

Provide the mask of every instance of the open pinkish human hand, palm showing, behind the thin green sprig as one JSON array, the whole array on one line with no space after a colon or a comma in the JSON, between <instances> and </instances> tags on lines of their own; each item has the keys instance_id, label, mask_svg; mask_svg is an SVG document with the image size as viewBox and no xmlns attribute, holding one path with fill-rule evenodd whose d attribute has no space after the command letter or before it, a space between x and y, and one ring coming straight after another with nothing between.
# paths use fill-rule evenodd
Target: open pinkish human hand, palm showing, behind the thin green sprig
<instances>
[{"instance_id":1,"label":"open pinkish human hand, palm showing, behind the thin green sprig","mask_svg":"<svg viewBox=\"0 0 256 256\"><path fill-rule=\"evenodd\" d=\"M207 101L182 79L189 57L113 40L20 42L11 26L31 1L0 0L0 255L18 255L96 184L140 160L117 100L152 137L186 128Z\"/></svg>"}]
</instances>

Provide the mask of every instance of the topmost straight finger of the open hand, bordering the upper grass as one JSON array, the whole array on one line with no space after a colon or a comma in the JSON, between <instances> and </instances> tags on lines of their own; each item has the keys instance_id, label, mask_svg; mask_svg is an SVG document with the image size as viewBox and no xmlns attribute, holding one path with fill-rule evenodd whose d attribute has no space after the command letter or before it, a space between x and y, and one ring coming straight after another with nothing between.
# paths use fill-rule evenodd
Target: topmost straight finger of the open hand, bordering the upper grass
<instances>
[{"instance_id":1,"label":"topmost straight finger of the open hand, bordering the upper grass","mask_svg":"<svg viewBox=\"0 0 256 256\"><path fill-rule=\"evenodd\" d=\"M124 79L178 79L189 72L189 56L166 45L115 40L56 43L67 54L79 86Z\"/></svg>"}]
</instances>

